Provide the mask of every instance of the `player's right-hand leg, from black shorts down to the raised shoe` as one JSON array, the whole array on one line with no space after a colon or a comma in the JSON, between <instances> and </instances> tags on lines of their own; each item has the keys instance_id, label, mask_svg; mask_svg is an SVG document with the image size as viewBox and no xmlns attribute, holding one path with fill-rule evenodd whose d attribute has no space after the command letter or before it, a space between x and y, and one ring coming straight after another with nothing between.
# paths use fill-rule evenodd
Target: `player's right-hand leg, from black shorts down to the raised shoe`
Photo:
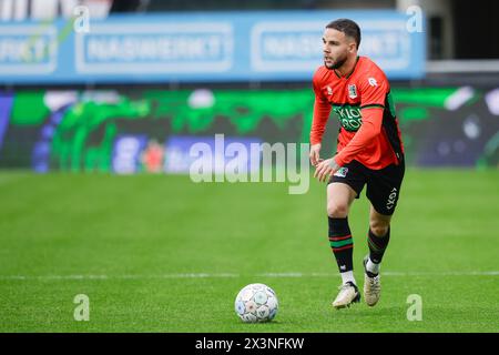
<instances>
[{"instance_id":1,"label":"player's right-hand leg, from black shorts down to the raised shoe","mask_svg":"<svg viewBox=\"0 0 499 355\"><path fill-rule=\"evenodd\" d=\"M367 182L369 199L369 254L364 258L364 298L369 306L378 303L381 293L379 267L390 241L390 221L397 205L404 165L390 165L374 172Z\"/></svg>"}]
</instances>

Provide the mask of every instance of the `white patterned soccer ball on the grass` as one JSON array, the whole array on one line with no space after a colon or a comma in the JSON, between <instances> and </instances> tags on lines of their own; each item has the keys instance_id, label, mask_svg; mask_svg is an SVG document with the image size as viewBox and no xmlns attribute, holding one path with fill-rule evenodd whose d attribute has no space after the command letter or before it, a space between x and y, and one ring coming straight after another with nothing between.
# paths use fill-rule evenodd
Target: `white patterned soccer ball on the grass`
<instances>
[{"instance_id":1,"label":"white patterned soccer ball on the grass","mask_svg":"<svg viewBox=\"0 0 499 355\"><path fill-rule=\"evenodd\" d=\"M249 284L236 296L234 307L236 314L245 323L263 323L274 320L277 314L277 296L264 284Z\"/></svg>"}]
</instances>

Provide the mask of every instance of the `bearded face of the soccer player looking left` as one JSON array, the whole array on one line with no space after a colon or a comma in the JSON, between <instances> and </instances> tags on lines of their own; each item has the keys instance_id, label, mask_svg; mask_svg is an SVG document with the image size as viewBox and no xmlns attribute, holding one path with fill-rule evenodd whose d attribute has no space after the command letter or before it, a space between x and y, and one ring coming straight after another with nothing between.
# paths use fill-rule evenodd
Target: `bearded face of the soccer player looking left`
<instances>
[{"instance_id":1,"label":"bearded face of the soccer player looking left","mask_svg":"<svg viewBox=\"0 0 499 355\"><path fill-rule=\"evenodd\" d=\"M348 53L352 52L352 39L347 38L344 32L335 29L326 29L323 36L324 65L327 69L338 69L347 60Z\"/></svg>"}]
</instances>

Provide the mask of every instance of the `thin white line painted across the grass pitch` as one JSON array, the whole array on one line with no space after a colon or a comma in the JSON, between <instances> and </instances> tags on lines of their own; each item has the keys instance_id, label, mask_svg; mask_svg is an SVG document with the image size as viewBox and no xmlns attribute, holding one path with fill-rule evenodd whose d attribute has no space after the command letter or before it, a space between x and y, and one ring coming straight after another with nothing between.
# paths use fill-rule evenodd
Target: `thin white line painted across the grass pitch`
<instances>
[{"instance_id":1,"label":"thin white line painted across the grass pitch","mask_svg":"<svg viewBox=\"0 0 499 355\"><path fill-rule=\"evenodd\" d=\"M499 271L467 271L467 272L384 272L383 276L499 276ZM65 281L65 280L161 280L161 278L230 278L230 277L335 277L333 273L173 273L157 275L0 275L0 281Z\"/></svg>"}]
</instances>

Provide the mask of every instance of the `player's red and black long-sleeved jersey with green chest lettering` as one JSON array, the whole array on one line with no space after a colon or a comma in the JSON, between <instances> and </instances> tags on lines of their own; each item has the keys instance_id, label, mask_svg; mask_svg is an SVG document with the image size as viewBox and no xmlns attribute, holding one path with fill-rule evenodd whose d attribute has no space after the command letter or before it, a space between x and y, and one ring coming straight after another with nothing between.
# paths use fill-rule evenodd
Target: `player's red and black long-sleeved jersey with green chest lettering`
<instances>
[{"instance_id":1,"label":"player's red and black long-sleeved jersey with green chest lettering","mask_svg":"<svg viewBox=\"0 0 499 355\"><path fill-rule=\"evenodd\" d=\"M314 74L313 87L310 144L322 142L333 109L342 124L335 155L338 165L356 160L379 170L400 162L404 145L390 85L378 65L357 57L354 71L346 77L323 65Z\"/></svg>"}]
</instances>

